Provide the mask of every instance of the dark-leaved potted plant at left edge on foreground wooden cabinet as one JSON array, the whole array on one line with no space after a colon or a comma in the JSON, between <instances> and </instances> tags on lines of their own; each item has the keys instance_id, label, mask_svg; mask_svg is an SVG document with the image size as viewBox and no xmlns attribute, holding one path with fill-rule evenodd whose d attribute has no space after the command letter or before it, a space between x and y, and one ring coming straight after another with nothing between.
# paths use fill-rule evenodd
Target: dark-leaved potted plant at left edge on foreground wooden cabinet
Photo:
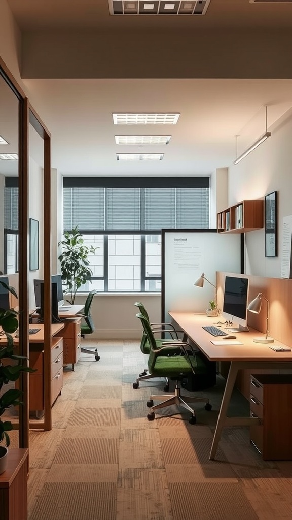
<instances>
[{"instance_id":1,"label":"dark-leaved potted plant at left edge on foreground wooden cabinet","mask_svg":"<svg viewBox=\"0 0 292 520\"><path fill-rule=\"evenodd\" d=\"M0 284L7 289L9 292L14 294L17 298L16 291L13 287L10 287L6 283L0 280ZM15 310L7 310L0 308L0 337L6 336L5 344L0 345L0 392L4 385L8 385L11 381L17 381L20 376L20 372L34 372L29 367L24 367L21 362L22 356L17 356L14 353L14 340L11 336L18 329L18 318ZM9 362L3 363L4 360L11 359L14 361L11 364ZM17 363L15 362L17 361ZM22 391L17 388L9 388L0 396L0 474L3 473L7 465L7 453L8 446L10 444L9 435L7 432L13 430L11 421L2 421L1 415L10 406L21 405ZM5 445L1 446L2 442Z\"/></svg>"}]
</instances>

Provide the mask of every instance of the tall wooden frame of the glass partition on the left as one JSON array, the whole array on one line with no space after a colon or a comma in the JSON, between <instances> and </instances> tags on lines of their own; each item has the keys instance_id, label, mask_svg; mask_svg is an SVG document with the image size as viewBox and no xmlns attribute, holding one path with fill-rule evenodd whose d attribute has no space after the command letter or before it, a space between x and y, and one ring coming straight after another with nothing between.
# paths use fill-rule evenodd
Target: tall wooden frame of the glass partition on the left
<instances>
[{"instance_id":1,"label":"tall wooden frame of the glass partition on the left","mask_svg":"<svg viewBox=\"0 0 292 520\"><path fill-rule=\"evenodd\" d=\"M19 388L23 405L19 407L19 448L29 448L29 429L51 430L51 135L22 88L0 57L0 76L19 99L19 354L29 358L29 125L44 140L44 420L30 422L29 374L21 373ZM26 365L28 362L26 362Z\"/></svg>"}]
</instances>

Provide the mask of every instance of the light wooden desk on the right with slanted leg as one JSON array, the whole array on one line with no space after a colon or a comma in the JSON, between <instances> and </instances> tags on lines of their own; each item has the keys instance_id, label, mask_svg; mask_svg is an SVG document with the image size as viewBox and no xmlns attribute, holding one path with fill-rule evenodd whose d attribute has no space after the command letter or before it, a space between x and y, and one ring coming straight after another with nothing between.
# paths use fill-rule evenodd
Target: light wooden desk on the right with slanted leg
<instances>
[{"instance_id":1,"label":"light wooden desk on the right with slanted leg","mask_svg":"<svg viewBox=\"0 0 292 520\"><path fill-rule=\"evenodd\" d=\"M211 340L223 340L222 336L212 336L209 332L202 329L202 326L216 326L216 321L218 321L217 317L208 318L204 314L194 313L169 312L168 314L210 361L231 361L209 456L209 459L214 459L221 430L224 426L250 426L260 424L260 420L256 417L227 417L227 409L238 370L283 370L292 368L292 351L275 352L269 348L269 344L267 343L254 343L254 337L261 335L261 333L251 328L250 332L236 333L236 340L243 343L243 345L213 345ZM228 329L223 327L223 330ZM278 341L275 341L275 345L287 346Z\"/></svg>"}]
</instances>

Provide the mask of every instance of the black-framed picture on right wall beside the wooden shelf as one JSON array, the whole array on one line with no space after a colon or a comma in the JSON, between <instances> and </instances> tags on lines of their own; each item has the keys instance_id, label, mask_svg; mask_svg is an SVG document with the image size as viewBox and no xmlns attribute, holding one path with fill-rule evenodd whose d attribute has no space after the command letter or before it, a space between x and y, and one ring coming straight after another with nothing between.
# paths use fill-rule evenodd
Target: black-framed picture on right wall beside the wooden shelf
<instances>
[{"instance_id":1,"label":"black-framed picture on right wall beside the wooden shelf","mask_svg":"<svg viewBox=\"0 0 292 520\"><path fill-rule=\"evenodd\" d=\"M264 197L266 256L278 256L277 244L277 192Z\"/></svg>"}]
</instances>

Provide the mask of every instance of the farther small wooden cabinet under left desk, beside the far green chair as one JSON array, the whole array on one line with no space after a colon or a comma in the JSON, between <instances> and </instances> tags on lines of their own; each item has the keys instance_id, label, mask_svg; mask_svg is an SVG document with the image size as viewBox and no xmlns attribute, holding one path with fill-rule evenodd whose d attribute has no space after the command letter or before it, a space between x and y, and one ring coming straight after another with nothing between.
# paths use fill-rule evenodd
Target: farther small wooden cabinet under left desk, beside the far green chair
<instances>
[{"instance_id":1,"label":"farther small wooden cabinet under left desk, beside the far green chair","mask_svg":"<svg viewBox=\"0 0 292 520\"><path fill-rule=\"evenodd\" d=\"M60 331L63 336L63 362L64 365L76 363L81 354L81 318L68 318L64 320L64 328Z\"/></svg>"}]
</instances>

